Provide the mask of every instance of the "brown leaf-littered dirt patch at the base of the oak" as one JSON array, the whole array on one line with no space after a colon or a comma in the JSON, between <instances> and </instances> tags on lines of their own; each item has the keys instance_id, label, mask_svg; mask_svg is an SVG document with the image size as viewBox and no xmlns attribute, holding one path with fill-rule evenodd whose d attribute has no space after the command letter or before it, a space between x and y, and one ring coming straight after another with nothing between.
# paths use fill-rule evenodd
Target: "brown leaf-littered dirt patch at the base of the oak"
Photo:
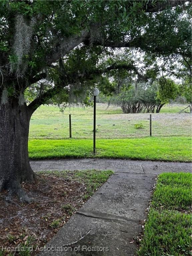
<instances>
[{"instance_id":1,"label":"brown leaf-littered dirt patch at the base of the oak","mask_svg":"<svg viewBox=\"0 0 192 256\"><path fill-rule=\"evenodd\" d=\"M56 172L41 173L35 183L22 183L34 199L30 204L20 203L16 198L5 203L6 192L0 193L0 248L45 245L90 196L86 182L75 179L77 172L68 171L67 178L66 174Z\"/></svg>"}]
</instances>

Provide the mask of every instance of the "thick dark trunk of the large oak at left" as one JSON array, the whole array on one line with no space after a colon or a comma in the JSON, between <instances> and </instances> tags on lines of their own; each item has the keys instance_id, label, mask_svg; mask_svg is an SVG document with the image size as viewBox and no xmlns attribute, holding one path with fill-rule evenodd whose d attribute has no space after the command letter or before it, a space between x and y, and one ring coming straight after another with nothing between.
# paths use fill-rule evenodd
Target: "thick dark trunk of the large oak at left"
<instances>
[{"instance_id":1,"label":"thick dark trunk of the large oak at left","mask_svg":"<svg viewBox=\"0 0 192 256\"><path fill-rule=\"evenodd\" d=\"M28 157L31 115L26 104L0 104L0 191L8 191L8 200L17 195L20 201L30 201L20 183L35 179Z\"/></svg>"}]
</instances>

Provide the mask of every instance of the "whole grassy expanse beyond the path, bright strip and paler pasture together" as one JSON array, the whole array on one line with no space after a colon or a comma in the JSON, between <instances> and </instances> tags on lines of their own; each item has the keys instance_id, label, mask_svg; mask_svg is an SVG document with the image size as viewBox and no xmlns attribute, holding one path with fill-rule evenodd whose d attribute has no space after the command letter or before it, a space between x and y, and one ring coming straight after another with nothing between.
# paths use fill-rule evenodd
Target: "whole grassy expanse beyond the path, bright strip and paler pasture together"
<instances>
[{"instance_id":1,"label":"whole grassy expanse beyond the path, bright strip and paler pasture together","mask_svg":"<svg viewBox=\"0 0 192 256\"><path fill-rule=\"evenodd\" d=\"M110 157L140 160L191 161L191 115L181 106L164 106L163 113L123 114L120 107L97 103L97 154L93 148L93 108L41 106L32 116L29 132L31 159ZM166 113L169 112L169 113ZM69 114L72 138L69 138ZM135 124L143 127L136 129Z\"/></svg>"}]
</instances>

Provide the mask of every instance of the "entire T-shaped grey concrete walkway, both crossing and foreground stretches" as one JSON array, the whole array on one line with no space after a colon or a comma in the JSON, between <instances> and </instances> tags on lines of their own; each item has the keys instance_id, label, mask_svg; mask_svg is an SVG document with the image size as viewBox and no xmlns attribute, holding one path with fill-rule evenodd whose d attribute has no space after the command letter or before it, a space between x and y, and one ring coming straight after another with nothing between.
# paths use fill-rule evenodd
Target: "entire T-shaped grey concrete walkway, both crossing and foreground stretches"
<instances>
[{"instance_id":1,"label":"entire T-shaped grey concrete walkway, both crossing and foreground stretches","mask_svg":"<svg viewBox=\"0 0 192 256\"><path fill-rule=\"evenodd\" d=\"M31 161L33 170L111 169L108 181L47 243L41 256L133 256L133 237L142 230L155 177L191 172L190 163L71 159ZM64 246L65 245L65 246ZM51 251L49 251L51 250Z\"/></svg>"}]
</instances>

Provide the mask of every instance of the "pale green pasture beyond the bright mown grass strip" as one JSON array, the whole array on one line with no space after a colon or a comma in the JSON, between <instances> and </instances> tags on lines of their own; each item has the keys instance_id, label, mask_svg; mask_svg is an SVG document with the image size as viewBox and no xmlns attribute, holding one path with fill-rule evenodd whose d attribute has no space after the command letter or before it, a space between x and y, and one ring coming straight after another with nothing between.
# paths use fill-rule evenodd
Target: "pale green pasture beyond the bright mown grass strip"
<instances>
[{"instance_id":1,"label":"pale green pasture beyond the bright mown grass strip","mask_svg":"<svg viewBox=\"0 0 192 256\"><path fill-rule=\"evenodd\" d=\"M187 113L178 114L177 108L165 106L162 109L163 114L152 114L153 136L191 136L191 116ZM56 106L41 106L35 111L30 121L29 139L69 138L69 114L72 118L72 138L92 139L92 107L71 107L61 113ZM97 138L122 139L149 136L149 113L123 114L120 107L107 108L106 104L97 104L96 118ZM143 124L142 129L135 128L135 124L138 123Z\"/></svg>"}]
</instances>

